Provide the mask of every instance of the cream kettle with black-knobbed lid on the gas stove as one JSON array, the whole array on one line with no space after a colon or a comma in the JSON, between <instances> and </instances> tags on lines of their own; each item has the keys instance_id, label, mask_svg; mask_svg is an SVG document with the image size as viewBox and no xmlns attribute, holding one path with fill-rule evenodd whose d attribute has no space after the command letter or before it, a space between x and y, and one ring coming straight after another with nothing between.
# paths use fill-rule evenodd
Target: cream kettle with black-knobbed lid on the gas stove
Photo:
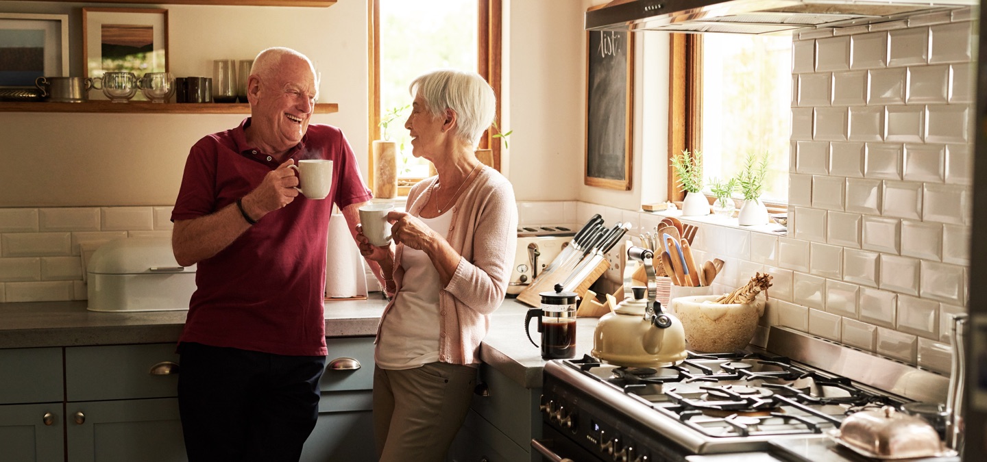
<instances>
[{"instance_id":1,"label":"cream kettle with black-knobbed lid on the gas stove","mask_svg":"<svg viewBox=\"0 0 987 462\"><path fill-rule=\"evenodd\" d=\"M662 312L661 303L654 299L653 256L642 247L628 249L628 257L645 264L647 287L632 288L634 297L620 302L596 324L592 355L605 363L665 367L681 363L687 356L682 322Z\"/></svg>"}]
</instances>

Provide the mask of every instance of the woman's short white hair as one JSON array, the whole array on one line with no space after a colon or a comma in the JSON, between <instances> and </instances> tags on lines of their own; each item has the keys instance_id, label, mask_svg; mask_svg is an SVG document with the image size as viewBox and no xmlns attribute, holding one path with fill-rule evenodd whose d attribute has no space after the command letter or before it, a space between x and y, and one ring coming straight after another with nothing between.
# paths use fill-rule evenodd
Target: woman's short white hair
<instances>
[{"instance_id":1,"label":"woman's short white hair","mask_svg":"<svg viewBox=\"0 0 987 462\"><path fill-rule=\"evenodd\" d=\"M496 96L490 84L476 72L438 70L418 76L408 87L412 96L425 101L433 116L446 108L456 111L457 126L453 134L476 148L484 130L493 123Z\"/></svg>"}]
</instances>

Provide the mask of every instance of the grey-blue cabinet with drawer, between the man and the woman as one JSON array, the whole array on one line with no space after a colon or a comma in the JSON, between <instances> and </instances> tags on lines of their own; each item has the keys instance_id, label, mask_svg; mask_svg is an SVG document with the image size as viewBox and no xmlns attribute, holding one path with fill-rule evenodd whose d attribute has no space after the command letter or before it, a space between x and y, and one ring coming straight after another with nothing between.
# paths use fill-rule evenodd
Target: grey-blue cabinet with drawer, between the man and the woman
<instances>
[{"instance_id":1,"label":"grey-blue cabinet with drawer, between the man and the woman","mask_svg":"<svg viewBox=\"0 0 987 462\"><path fill-rule=\"evenodd\" d=\"M373 440L373 337L327 338L319 421L303 462L376 460Z\"/></svg>"}]
</instances>

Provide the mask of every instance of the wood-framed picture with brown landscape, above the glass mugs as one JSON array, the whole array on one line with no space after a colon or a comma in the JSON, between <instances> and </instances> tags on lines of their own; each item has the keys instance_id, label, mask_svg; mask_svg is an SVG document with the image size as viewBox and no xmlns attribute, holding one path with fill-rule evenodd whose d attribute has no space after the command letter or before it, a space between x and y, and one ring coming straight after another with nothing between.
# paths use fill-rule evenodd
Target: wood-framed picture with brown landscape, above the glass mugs
<instances>
[{"instance_id":1,"label":"wood-framed picture with brown landscape, above the glass mugs","mask_svg":"<svg viewBox=\"0 0 987 462\"><path fill-rule=\"evenodd\" d=\"M82 59L86 77L168 72L168 10L83 8Z\"/></svg>"}]
</instances>

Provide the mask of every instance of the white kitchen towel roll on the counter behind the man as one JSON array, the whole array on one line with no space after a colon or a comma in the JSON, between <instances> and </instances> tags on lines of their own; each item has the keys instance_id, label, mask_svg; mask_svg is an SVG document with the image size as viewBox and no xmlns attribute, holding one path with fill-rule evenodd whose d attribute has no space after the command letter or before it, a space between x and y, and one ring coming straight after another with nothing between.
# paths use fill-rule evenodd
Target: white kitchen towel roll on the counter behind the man
<instances>
[{"instance_id":1,"label":"white kitchen towel roll on the counter behind the man","mask_svg":"<svg viewBox=\"0 0 987 462\"><path fill-rule=\"evenodd\" d=\"M326 297L367 296L367 278L363 257L342 214L329 221L329 245L326 247Z\"/></svg>"}]
</instances>

